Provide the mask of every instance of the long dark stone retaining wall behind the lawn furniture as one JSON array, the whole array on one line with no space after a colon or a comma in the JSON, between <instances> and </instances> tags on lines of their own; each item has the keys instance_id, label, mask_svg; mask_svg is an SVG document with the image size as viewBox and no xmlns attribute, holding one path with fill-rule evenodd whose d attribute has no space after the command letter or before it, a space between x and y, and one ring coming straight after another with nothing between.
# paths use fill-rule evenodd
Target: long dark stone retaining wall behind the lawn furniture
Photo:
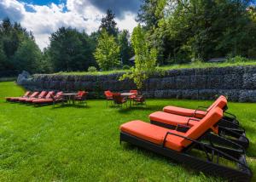
<instances>
[{"instance_id":1,"label":"long dark stone retaining wall behind the lawn furniture","mask_svg":"<svg viewBox=\"0 0 256 182\"><path fill-rule=\"evenodd\" d=\"M135 89L130 80L119 82L119 74L105 76L36 75L19 83L30 90L90 92L90 98L103 97L104 90L114 92ZM212 100L219 94L229 100L256 101L256 66L201 68L166 71L150 77L143 88L148 98Z\"/></svg>"}]
</instances>

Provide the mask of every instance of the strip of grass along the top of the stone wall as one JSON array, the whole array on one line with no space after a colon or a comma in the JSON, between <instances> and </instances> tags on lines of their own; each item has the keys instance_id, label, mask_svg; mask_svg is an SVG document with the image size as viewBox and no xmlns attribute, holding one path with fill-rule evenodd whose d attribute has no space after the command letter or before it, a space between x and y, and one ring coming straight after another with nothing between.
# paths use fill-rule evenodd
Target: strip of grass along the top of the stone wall
<instances>
[{"instance_id":1,"label":"strip of grass along the top of the stone wall","mask_svg":"<svg viewBox=\"0 0 256 182\"><path fill-rule=\"evenodd\" d=\"M256 65L255 60L247 60L246 62L223 62L223 63L208 63L208 62L193 62L189 64L179 64L179 65L165 65L160 66L159 69L162 71L167 70L177 70L184 68L209 68L209 67L227 67L227 66L246 66L246 65ZM54 73L55 75L108 75L113 73L126 72L129 70L113 70L113 71L61 71Z\"/></svg>"}]
</instances>

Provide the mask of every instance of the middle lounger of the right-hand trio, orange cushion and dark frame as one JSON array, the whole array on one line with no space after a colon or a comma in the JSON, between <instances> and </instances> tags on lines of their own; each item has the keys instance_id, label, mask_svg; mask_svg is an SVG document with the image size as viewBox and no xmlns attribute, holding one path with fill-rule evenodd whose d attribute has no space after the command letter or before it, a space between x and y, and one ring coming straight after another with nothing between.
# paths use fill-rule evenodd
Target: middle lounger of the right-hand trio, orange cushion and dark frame
<instances>
[{"instance_id":1,"label":"middle lounger of the right-hand trio, orange cushion and dark frame","mask_svg":"<svg viewBox=\"0 0 256 182\"><path fill-rule=\"evenodd\" d=\"M214 105L211 110L208 112L215 110L218 105ZM220 107L218 107L220 108ZM207 112L207 113L208 113ZM207 114L205 115L205 117ZM195 117L184 117L180 115L175 115L163 111L156 111L149 115L150 122L154 125L158 125L163 128L177 128L177 126L184 126L184 129L189 129L193 127L196 123L200 123L205 118L195 118ZM249 145L249 139L247 139L244 128L227 128L223 126L223 117L218 121L218 129L215 131L218 136L224 137L225 139L229 139L232 142L235 142L238 145L247 148ZM210 133L209 133L210 134ZM212 136L212 139L218 140L218 137Z\"/></svg>"}]
</instances>

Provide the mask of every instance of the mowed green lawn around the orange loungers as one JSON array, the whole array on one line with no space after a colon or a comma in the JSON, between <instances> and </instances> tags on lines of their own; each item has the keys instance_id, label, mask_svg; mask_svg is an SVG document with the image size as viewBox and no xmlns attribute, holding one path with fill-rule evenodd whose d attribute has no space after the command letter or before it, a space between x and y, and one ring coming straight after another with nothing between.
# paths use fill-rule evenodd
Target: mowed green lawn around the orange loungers
<instances>
[{"instance_id":1,"label":"mowed green lawn around the orange loungers","mask_svg":"<svg viewBox=\"0 0 256 182\"><path fill-rule=\"evenodd\" d=\"M6 103L19 96L14 82L0 82L0 181L222 181L133 145L119 145L119 126L165 105L196 108L212 101L148 100L147 108L117 109L105 100L87 107L34 107ZM251 140L247 162L256 172L256 105L230 103ZM256 178L253 177L255 181Z\"/></svg>"}]
</instances>

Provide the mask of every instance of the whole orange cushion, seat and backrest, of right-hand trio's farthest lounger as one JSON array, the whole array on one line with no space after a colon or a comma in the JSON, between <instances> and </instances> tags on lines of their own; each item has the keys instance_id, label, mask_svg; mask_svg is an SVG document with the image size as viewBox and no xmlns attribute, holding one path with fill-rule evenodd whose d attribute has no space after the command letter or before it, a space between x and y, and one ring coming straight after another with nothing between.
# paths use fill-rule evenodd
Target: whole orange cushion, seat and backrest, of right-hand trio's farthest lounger
<instances>
[{"instance_id":1,"label":"whole orange cushion, seat and backrest, of right-hand trio's farthest lounger","mask_svg":"<svg viewBox=\"0 0 256 182\"><path fill-rule=\"evenodd\" d=\"M221 109L224 109L224 107L227 105L227 99L221 95L218 97L217 100L215 100L212 105L210 105L207 108L207 111L212 110L212 108L218 106ZM205 117L205 115L207 114L207 111L196 111L193 109L186 109L186 108L182 108L182 107L176 107L176 106L166 106L164 107L163 111L171 113L171 114L176 114L176 115L181 115L184 117L198 117L198 118L202 118ZM195 114L195 116L194 116Z\"/></svg>"}]
</instances>

